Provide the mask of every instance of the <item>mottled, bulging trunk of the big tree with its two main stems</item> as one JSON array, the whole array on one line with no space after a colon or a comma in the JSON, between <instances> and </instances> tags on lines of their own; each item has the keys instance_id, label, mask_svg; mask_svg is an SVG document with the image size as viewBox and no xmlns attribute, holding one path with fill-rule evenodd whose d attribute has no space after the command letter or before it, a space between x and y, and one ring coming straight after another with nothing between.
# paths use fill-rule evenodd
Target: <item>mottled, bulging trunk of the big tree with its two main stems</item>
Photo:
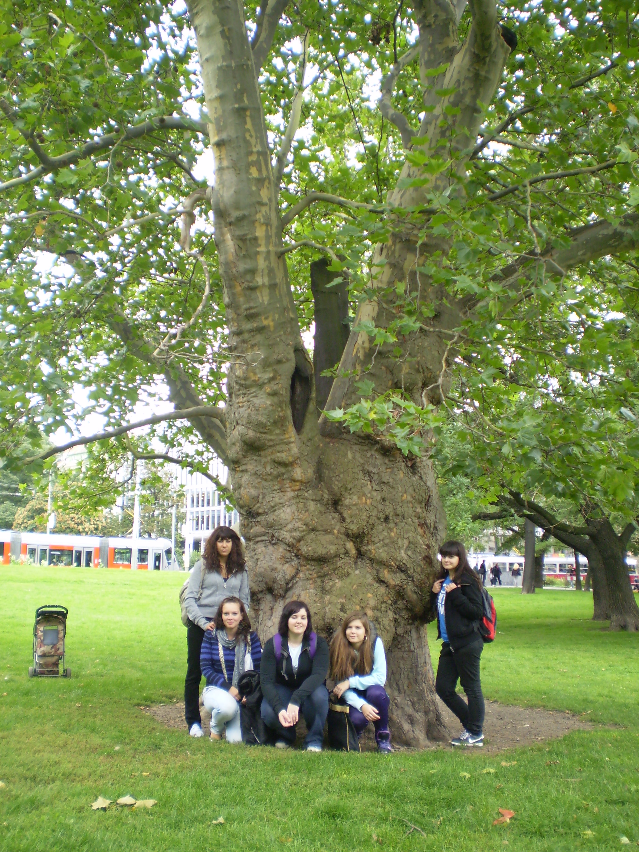
<instances>
[{"instance_id":1,"label":"mottled, bulging trunk of the big tree with its two main stems","mask_svg":"<svg viewBox=\"0 0 639 852\"><path fill-rule=\"evenodd\" d=\"M446 526L432 465L403 458L370 437L349 435L324 417L318 423L314 371L288 281L279 187L254 65L268 49L258 44L251 55L237 0L187 0L187 6L215 160L210 182L231 361L225 460L242 516L257 628L269 636L285 601L302 598L316 628L330 638L346 613L365 607L387 649L394 735L423 746L446 734L425 630ZM462 45L449 0L419 0L416 9L425 102L433 107L418 133L428 139L426 153L438 153L446 141L460 171L475 144L482 105L492 101L509 53L494 0L475 0L471 8L473 25ZM260 38L266 32L264 26ZM439 77L425 76L445 63ZM440 87L452 94L437 95ZM445 113L446 107L452 110ZM401 176L405 183L423 177L411 164ZM389 202L405 208L428 204L429 193L445 189L447 181L450 177L438 176L429 185L398 188ZM421 302L435 305L442 331L424 329L401 341L399 360L394 347L382 347L374 365L368 336L351 333L329 409L358 399L354 380L362 371L377 392L401 388L419 403L424 396L442 398L442 358L460 313L443 289L416 271L421 258L448 249L446 240L422 239L417 230L410 222L406 227L394 222L389 242L375 252L373 286L394 289L404 282ZM384 325L388 319L377 300L360 306L358 320Z\"/></svg>"}]
</instances>

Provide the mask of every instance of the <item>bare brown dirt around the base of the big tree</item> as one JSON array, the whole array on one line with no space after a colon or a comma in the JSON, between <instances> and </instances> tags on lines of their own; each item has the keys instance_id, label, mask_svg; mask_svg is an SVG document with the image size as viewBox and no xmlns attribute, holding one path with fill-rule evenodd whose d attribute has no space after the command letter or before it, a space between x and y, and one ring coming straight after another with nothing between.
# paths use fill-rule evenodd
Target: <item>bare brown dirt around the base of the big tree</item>
<instances>
[{"instance_id":1,"label":"bare brown dirt around the base of the big tree","mask_svg":"<svg viewBox=\"0 0 639 852\"><path fill-rule=\"evenodd\" d=\"M439 699L438 699L439 700ZM177 728L187 731L187 723L184 721L184 702L176 701L171 704L158 704L140 708L148 716L153 716L166 728ZM448 708L441 704L440 710L446 722L446 727L452 736L460 733L461 725ZM200 707L202 711L202 730L208 737L210 734L210 716ZM504 749L517 748L518 746L533 746L545 740L557 740L571 731L591 730L590 722L570 712L539 710L537 707L519 707L498 704L497 701L486 701L486 720L484 722L484 747L483 751L492 753L504 751ZM302 740L306 734L303 720L297 725L297 745L302 746ZM400 751L413 751L405 746L394 748ZM434 743L433 748L450 748L446 743ZM374 751L375 740L373 739L372 725L366 729L361 739L362 751Z\"/></svg>"}]
</instances>

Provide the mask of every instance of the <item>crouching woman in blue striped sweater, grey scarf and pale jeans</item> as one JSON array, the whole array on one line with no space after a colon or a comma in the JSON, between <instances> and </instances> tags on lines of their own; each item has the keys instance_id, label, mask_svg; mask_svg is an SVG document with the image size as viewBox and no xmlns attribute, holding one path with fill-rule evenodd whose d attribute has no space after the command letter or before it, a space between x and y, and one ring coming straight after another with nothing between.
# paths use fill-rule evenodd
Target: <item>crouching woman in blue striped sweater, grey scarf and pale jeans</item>
<instances>
[{"instance_id":1,"label":"crouching woman in blue striped sweater, grey scarf and pale jeans","mask_svg":"<svg viewBox=\"0 0 639 852\"><path fill-rule=\"evenodd\" d=\"M227 597L218 607L214 630L207 630L202 640L199 665L206 678L202 694L204 707L210 712L210 739L222 740L227 729L227 742L242 741L239 724L239 676L258 669L262 645L239 597Z\"/></svg>"}]
</instances>

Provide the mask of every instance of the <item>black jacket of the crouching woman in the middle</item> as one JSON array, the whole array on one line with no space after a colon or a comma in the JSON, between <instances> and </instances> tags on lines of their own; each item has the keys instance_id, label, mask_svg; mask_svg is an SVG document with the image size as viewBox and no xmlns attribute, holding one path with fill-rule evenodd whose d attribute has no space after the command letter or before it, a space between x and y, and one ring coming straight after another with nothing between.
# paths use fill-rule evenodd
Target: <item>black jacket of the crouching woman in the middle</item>
<instances>
[{"instance_id":1,"label":"black jacket of the crouching woman in the middle","mask_svg":"<svg viewBox=\"0 0 639 852\"><path fill-rule=\"evenodd\" d=\"M309 645L308 639L304 639L302 653L300 653L297 664L297 674L293 673L293 664L289 656L289 641L286 636L282 636L282 656L279 663L275 659L273 639L269 639L264 646L262 662L260 663L260 683L262 684L262 694L267 699L268 704L273 707L276 716L279 711L286 709L279 699L279 693L275 688L276 683L292 689L291 704L300 707L302 701L307 699L326 680L328 674L328 643L321 636L317 637L317 648L313 659L311 659Z\"/></svg>"}]
</instances>

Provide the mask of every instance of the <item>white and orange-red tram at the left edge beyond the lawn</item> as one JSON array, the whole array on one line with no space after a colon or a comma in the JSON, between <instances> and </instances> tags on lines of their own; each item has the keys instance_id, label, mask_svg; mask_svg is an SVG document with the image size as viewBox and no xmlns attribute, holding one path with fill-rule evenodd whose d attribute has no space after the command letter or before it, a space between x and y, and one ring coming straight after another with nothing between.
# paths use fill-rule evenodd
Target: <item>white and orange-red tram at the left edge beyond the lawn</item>
<instances>
[{"instance_id":1,"label":"white and orange-red tram at the left edge beyond the lawn","mask_svg":"<svg viewBox=\"0 0 639 852\"><path fill-rule=\"evenodd\" d=\"M29 561L34 565L77 568L129 568L137 550L141 571L179 571L169 538L113 538L66 533L18 533L0 530L0 556L4 565Z\"/></svg>"}]
</instances>

